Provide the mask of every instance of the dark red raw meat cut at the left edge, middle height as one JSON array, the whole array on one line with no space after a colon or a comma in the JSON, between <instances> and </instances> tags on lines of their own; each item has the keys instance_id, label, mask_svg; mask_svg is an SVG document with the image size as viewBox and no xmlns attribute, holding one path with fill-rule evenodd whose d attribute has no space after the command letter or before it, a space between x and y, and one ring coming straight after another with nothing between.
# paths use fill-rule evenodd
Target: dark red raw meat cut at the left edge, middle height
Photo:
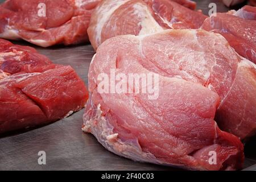
<instances>
[{"instance_id":1,"label":"dark red raw meat cut at the left edge, middle height","mask_svg":"<svg viewBox=\"0 0 256 182\"><path fill-rule=\"evenodd\" d=\"M84 107L88 91L70 66L0 39L0 134L56 121Z\"/></svg>"}]
</instances>

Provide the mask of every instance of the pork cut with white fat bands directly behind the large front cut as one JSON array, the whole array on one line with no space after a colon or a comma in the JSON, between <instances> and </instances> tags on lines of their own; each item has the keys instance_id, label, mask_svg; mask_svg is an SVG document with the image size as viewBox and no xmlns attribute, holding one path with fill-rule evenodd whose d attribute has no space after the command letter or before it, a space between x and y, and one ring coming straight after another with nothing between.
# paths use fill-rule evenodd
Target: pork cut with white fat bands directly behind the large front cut
<instances>
[{"instance_id":1,"label":"pork cut with white fat bands directly behind the large front cut","mask_svg":"<svg viewBox=\"0 0 256 182\"><path fill-rule=\"evenodd\" d=\"M207 18L200 11L193 11L176 2L184 5L184 1L178 0L102 1L92 13L88 28L90 43L97 49L106 39L117 35L144 35L170 28L199 28Z\"/></svg>"}]
</instances>

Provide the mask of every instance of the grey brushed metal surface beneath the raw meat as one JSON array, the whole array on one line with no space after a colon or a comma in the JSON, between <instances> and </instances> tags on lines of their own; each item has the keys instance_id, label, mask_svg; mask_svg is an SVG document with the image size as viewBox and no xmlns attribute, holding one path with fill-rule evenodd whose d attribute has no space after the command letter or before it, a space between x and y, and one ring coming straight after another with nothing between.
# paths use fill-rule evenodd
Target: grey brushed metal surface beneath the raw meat
<instances>
[{"instance_id":1,"label":"grey brushed metal surface beneath the raw meat","mask_svg":"<svg viewBox=\"0 0 256 182\"><path fill-rule=\"evenodd\" d=\"M228 10L220 1L197 1L197 7L207 14L210 2L218 5L217 11ZM89 64L94 54L90 45L40 48L25 42L14 43L35 47L54 63L72 65L87 85ZM177 170L133 162L105 150L93 135L82 133L83 113L81 110L51 125L2 136L0 170ZM38 164L39 151L46 152L46 165ZM246 144L245 167L256 164L255 154L256 140Z\"/></svg>"}]
</instances>

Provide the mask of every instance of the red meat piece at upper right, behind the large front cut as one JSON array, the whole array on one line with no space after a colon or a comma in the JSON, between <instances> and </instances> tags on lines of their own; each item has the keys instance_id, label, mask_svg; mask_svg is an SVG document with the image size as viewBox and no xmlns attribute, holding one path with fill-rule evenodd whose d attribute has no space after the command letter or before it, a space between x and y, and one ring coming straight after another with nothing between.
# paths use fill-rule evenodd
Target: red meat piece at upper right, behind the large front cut
<instances>
[{"instance_id":1,"label":"red meat piece at upper right, behind the large front cut","mask_svg":"<svg viewBox=\"0 0 256 182\"><path fill-rule=\"evenodd\" d=\"M256 63L256 20L217 13L207 18L202 28L221 34L237 53Z\"/></svg>"}]
</instances>

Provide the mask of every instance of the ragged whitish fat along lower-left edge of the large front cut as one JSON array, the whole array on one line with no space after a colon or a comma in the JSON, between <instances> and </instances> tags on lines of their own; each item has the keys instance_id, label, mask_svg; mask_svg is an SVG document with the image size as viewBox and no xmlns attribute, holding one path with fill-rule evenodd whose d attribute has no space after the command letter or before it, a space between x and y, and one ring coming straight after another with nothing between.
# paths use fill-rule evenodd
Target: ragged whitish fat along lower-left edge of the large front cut
<instances>
[{"instance_id":1,"label":"ragged whitish fat along lower-left edge of the large front cut","mask_svg":"<svg viewBox=\"0 0 256 182\"><path fill-rule=\"evenodd\" d=\"M91 104L91 103L88 103ZM138 140L127 140L123 141L118 138L118 133L113 132L113 126L108 122L108 120L102 115L101 105L98 104L96 108L96 115L89 118L85 113L83 116L84 127L82 131L87 133L92 133L109 151L114 154L123 156L139 162L149 162L155 164L162 164L165 166L179 166L185 168L180 164L170 164L162 162L155 158L150 152L142 151Z\"/></svg>"}]
</instances>

